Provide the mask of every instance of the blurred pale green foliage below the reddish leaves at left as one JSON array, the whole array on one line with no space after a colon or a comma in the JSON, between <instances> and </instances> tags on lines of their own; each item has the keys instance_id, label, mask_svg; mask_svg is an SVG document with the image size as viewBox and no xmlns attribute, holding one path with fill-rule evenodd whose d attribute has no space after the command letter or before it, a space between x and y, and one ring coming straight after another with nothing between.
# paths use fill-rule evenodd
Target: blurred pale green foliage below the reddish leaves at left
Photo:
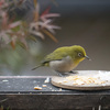
<instances>
[{"instance_id":1,"label":"blurred pale green foliage below the reddish leaves at left","mask_svg":"<svg viewBox=\"0 0 110 110\"><path fill-rule=\"evenodd\" d=\"M6 50L0 50L0 73L7 70L13 75L21 75L23 74L22 70L30 66L32 62L36 65L43 58L42 44L38 41L30 42L29 47L30 50L24 50L18 45L15 50L9 48L9 46Z\"/></svg>"}]
</instances>

